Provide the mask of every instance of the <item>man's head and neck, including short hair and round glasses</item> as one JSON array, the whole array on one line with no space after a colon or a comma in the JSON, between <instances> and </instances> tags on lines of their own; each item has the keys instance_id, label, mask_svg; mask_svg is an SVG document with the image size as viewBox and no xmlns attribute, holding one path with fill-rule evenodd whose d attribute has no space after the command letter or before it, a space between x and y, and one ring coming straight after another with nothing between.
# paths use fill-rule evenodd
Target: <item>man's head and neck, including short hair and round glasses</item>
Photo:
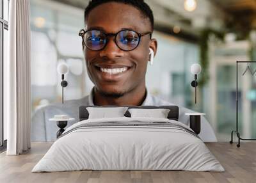
<instances>
[{"instance_id":1,"label":"man's head and neck, including short hair and round glasses","mask_svg":"<svg viewBox=\"0 0 256 183\"><path fill-rule=\"evenodd\" d=\"M152 11L143 1L91 1L84 18L81 36L95 104L140 106L149 48L157 49Z\"/></svg>"}]
</instances>

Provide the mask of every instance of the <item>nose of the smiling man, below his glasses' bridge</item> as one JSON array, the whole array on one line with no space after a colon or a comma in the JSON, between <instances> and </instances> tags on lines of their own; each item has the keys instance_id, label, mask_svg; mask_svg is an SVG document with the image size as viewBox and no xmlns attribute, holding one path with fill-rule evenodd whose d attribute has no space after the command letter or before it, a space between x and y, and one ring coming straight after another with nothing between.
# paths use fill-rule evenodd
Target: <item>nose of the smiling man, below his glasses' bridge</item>
<instances>
[{"instance_id":1,"label":"nose of the smiling man, below his glasses' bridge","mask_svg":"<svg viewBox=\"0 0 256 183\"><path fill-rule=\"evenodd\" d=\"M109 38L107 45L100 51L100 57L108 60L114 60L124 56L122 51L116 44L113 37Z\"/></svg>"}]
</instances>

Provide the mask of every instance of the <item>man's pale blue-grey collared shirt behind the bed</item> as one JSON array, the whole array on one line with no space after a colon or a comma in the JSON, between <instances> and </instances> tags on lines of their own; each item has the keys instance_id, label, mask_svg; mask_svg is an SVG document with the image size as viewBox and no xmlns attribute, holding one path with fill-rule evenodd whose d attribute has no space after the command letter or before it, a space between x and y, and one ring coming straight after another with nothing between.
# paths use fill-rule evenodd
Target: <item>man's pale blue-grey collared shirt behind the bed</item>
<instances>
[{"instance_id":1,"label":"man's pale blue-grey collared shirt behind the bed","mask_svg":"<svg viewBox=\"0 0 256 183\"><path fill-rule=\"evenodd\" d=\"M150 95L146 89L146 98L141 106L171 106L175 105L166 102L158 97ZM77 100L67 100L64 105L61 103L50 104L49 106L38 109L32 116L31 120L31 141L54 141L56 140L56 132L59 130L56 122L49 121L54 115L68 115L70 118L75 118L74 121L69 121L67 127L79 122L79 107L80 106L95 106L93 104L93 88L90 95ZM185 107L179 106L179 121L189 125L189 116L185 113L196 113ZM201 132L199 134L203 141L217 141L214 131L207 122L206 118L201 118Z\"/></svg>"}]
</instances>

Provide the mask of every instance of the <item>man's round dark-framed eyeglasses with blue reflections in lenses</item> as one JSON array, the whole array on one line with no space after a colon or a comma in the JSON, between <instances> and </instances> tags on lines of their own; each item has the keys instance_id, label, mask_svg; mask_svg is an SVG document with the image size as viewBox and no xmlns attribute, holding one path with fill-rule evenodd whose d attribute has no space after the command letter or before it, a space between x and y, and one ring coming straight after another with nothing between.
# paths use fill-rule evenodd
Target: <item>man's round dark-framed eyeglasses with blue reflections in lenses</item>
<instances>
[{"instance_id":1,"label":"man's round dark-framed eyeglasses with blue reflections in lenses","mask_svg":"<svg viewBox=\"0 0 256 183\"><path fill-rule=\"evenodd\" d=\"M114 36L115 44L122 51L132 51L140 44L141 36L150 35L152 32L137 33L131 29L123 29L117 33L105 33L97 29L87 30L81 29L79 36L83 38L83 43L92 51L100 51L108 44L108 36Z\"/></svg>"}]
</instances>

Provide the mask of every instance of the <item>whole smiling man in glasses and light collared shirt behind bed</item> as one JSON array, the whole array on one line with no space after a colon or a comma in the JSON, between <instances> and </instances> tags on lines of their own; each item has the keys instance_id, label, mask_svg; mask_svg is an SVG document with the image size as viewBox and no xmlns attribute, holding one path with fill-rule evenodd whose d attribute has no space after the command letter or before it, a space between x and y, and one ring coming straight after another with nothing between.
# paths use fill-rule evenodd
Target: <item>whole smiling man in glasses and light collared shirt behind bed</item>
<instances>
[{"instance_id":1,"label":"whole smiling man in glasses and light collared shirt behind bed","mask_svg":"<svg viewBox=\"0 0 256 183\"><path fill-rule=\"evenodd\" d=\"M32 141L56 139L56 123L49 118L67 114L78 120L79 106L161 106L173 105L148 93L145 74L150 56L156 55L157 40L152 38L154 17L150 7L139 0L92 0L84 11L81 29L88 76L95 84L89 96L68 100L65 105L51 104L36 111L31 123ZM150 55L150 49L154 55ZM175 67L175 66L173 66ZM189 123L180 107L180 122ZM68 125L72 125L69 122ZM202 118L199 136L216 141L211 125Z\"/></svg>"}]
</instances>

